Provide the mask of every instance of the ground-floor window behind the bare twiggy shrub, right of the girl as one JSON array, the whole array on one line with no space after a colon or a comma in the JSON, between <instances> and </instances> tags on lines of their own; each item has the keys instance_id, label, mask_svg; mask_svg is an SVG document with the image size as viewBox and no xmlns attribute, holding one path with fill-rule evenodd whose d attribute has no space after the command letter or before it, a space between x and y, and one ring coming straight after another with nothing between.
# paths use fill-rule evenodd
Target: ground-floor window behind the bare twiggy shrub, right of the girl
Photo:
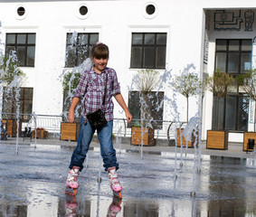
<instances>
[{"instance_id":1,"label":"ground-floor window behind the bare twiggy shrub, right of the girl","mask_svg":"<svg viewBox=\"0 0 256 217\"><path fill-rule=\"evenodd\" d=\"M132 127L140 124L141 114L141 95L139 91L129 91L128 109L132 114L133 120L128 123L128 127ZM150 91L147 93L147 110L150 114L147 114L148 119L152 119L151 125L154 128L161 128L163 121L164 110L164 92L163 91Z\"/></svg>"}]
</instances>

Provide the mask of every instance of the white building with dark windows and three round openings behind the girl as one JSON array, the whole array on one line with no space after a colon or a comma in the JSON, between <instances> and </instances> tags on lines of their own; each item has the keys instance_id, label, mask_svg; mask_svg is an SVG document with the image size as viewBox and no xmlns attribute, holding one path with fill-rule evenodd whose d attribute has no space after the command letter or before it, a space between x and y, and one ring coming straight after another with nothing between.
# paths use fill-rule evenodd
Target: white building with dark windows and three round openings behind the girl
<instances>
[{"instance_id":1,"label":"white building with dark windows and three round openings behind the girl","mask_svg":"<svg viewBox=\"0 0 256 217\"><path fill-rule=\"evenodd\" d=\"M79 63L75 58L66 59L68 33L78 33L90 45L96 41L109 45L109 67L117 71L128 102L129 91L136 90L134 76L141 69L175 76L193 65L191 70L201 80L217 68L233 75L250 69L255 8L254 0L0 1L1 40L3 52L16 49L26 73L22 87L27 88L24 96L31 96L24 99L32 105L29 109L36 114L60 115L62 72ZM31 90L33 95L26 94ZM166 82L160 91L165 95L160 118L173 121L172 87ZM189 118L198 112L199 99L190 99ZM175 102L178 120L185 121L185 97L177 95ZM216 127L213 105L213 93L205 92L201 112L204 140L207 129ZM222 128L232 130L230 140L242 141L238 132L251 129L254 105L235 90L222 106ZM124 118L118 105L115 118Z\"/></svg>"}]
</instances>

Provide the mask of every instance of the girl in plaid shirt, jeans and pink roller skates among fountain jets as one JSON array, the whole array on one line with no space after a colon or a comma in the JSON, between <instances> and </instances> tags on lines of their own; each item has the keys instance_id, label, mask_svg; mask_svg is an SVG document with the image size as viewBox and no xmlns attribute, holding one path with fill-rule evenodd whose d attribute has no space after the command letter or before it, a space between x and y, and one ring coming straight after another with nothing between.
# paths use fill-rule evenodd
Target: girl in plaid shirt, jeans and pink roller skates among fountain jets
<instances>
[{"instance_id":1,"label":"girl in plaid shirt, jeans and pink roller skates among fountain jets","mask_svg":"<svg viewBox=\"0 0 256 217\"><path fill-rule=\"evenodd\" d=\"M119 193L122 190L119 184L119 175L117 170L119 164L117 163L116 150L112 144L112 129L113 129L113 102L114 97L124 109L128 122L131 121L132 116L128 111L128 107L120 93L120 86L116 71L107 67L109 61L109 47L104 43L97 43L91 50L90 57L93 65L90 70L84 71L81 80L73 99L71 101L71 108L69 110L69 121L74 122L74 110L81 100L81 127L78 137L77 146L71 156L71 164L69 166L70 173L68 175L67 193L75 194L79 187L78 176L83 168L83 163L86 154L89 150L90 142L95 130L97 130L100 141L101 156L105 171L109 172L109 184L114 193ZM107 80L107 89L105 95L105 104L102 107L102 96L105 90L105 82ZM103 110L107 124L94 128L90 126L90 122L86 115L97 109ZM74 191L72 191L74 190Z\"/></svg>"}]
</instances>

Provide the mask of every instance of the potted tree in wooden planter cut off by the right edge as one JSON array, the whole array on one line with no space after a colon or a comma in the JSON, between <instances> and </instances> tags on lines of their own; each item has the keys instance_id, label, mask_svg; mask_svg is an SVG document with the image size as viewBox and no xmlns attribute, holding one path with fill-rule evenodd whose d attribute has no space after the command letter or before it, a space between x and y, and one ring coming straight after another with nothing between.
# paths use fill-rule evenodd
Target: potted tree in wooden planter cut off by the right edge
<instances>
[{"instance_id":1,"label":"potted tree in wooden planter cut off by the right edge","mask_svg":"<svg viewBox=\"0 0 256 217\"><path fill-rule=\"evenodd\" d=\"M256 132L256 70L248 71L241 76L236 78L239 82L239 88L242 90L250 99L254 102L254 118L253 118L253 131L248 131L243 133L243 151L253 151Z\"/></svg>"}]
</instances>

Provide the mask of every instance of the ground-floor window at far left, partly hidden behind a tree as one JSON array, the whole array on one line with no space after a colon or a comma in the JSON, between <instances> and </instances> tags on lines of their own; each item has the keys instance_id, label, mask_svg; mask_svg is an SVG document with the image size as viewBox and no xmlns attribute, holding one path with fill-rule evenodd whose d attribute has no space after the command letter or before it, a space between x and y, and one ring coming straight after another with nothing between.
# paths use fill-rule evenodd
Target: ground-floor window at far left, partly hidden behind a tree
<instances>
[{"instance_id":1,"label":"ground-floor window at far left, partly hidden behind a tree","mask_svg":"<svg viewBox=\"0 0 256 217\"><path fill-rule=\"evenodd\" d=\"M21 88L20 97L18 100L20 106L20 114L31 114L33 109L33 88ZM14 89L4 89L3 96L3 113L7 113L8 118L13 118L12 113L16 113L17 102L15 99ZM28 115L22 117L24 120L29 120Z\"/></svg>"}]
</instances>

